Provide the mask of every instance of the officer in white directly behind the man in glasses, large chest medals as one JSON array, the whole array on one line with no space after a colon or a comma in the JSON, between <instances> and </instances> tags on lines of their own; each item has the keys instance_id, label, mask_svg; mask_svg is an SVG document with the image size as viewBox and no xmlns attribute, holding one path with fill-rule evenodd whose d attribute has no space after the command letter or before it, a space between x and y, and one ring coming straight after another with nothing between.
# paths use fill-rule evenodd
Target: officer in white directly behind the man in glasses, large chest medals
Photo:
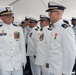
<instances>
[{"instance_id":1,"label":"officer in white directly behind the man in glasses, large chest medals","mask_svg":"<svg viewBox=\"0 0 76 75\"><path fill-rule=\"evenodd\" d=\"M38 35L38 42L36 48L36 60L37 75L49 75L49 45L51 30L49 29L50 18L45 15L40 15L40 33ZM48 60L47 60L48 59Z\"/></svg>"}]
</instances>

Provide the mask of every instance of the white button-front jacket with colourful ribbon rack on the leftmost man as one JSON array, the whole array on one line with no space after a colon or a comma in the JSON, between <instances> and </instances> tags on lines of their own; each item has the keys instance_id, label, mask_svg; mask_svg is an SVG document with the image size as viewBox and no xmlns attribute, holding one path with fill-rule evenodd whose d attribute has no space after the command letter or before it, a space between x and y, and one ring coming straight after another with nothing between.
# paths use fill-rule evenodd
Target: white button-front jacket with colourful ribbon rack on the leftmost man
<instances>
[{"instance_id":1,"label":"white button-front jacket with colourful ribbon rack on the leftmost man","mask_svg":"<svg viewBox=\"0 0 76 75\"><path fill-rule=\"evenodd\" d=\"M26 64L25 40L21 27L2 24L0 27L0 69L18 70Z\"/></svg>"}]
</instances>

